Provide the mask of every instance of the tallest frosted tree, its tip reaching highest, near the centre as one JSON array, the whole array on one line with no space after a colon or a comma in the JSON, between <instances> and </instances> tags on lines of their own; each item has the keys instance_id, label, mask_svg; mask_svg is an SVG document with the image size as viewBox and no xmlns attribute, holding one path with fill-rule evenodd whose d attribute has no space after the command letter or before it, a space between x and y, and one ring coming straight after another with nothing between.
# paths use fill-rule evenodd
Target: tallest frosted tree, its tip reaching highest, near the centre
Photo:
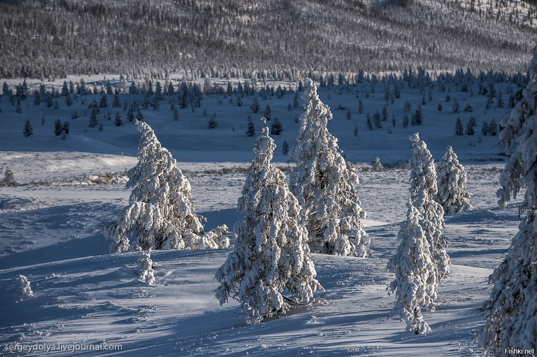
<instances>
[{"instance_id":1,"label":"tallest frosted tree, its tip reaching highest, near the centre","mask_svg":"<svg viewBox=\"0 0 537 357\"><path fill-rule=\"evenodd\" d=\"M302 99L304 113L291 154L296 166L289 175L289 187L302 206L308 244L314 252L369 256L371 239L360 222L366 212L356 190L358 176L347 167L336 137L328 132L330 108L319 99L309 78Z\"/></svg>"}]
</instances>

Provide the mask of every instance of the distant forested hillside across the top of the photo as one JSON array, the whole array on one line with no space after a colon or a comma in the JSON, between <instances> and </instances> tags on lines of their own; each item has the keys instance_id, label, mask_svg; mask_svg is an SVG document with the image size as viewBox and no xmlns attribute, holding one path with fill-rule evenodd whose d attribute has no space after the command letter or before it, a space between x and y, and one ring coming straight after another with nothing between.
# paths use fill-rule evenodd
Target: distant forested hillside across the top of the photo
<instances>
[{"instance_id":1,"label":"distant forested hillside across the top of the photo","mask_svg":"<svg viewBox=\"0 0 537 357\"><path fill-rule=\"evenodd\" d=\"M0 78L525 71L535 0L0 1Z\"/></svg>"}]
</instances>

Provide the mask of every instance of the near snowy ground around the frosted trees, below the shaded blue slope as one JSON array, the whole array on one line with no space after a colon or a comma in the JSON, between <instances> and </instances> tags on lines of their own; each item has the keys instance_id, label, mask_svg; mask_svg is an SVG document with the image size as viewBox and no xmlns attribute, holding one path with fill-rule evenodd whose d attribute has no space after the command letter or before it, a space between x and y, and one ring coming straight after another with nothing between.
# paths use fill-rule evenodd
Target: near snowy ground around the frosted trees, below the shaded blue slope
<instances>
[{"instance_id":1,"label":"near snowy ground around the frosted trees, below the shaded blue slope","mask_svg":"<svg viewBox=\"0 0 537 357\"><path fill-rule=\"evenodd\" d=\"M19 154L41 155L39 162L26 159L26 165L13 166L17 172L26 172L21 181L47 176L40 162L53 162L52 154ZM125 156L72 156L72 161L66 157L65 169L57 169L58 177L111 169L106 164L87 167L89 162L135 162ZM220 169L234 166L221 164ZM129 355L393 356L430 355L431 349L435 355L473 355L472 339L481 324L477 309L487 296L487 276L498 265L519 221L516 207L505 211L494 207L497 167L467 166L469 189L478 209L446 217L453 273L440 288L440 309L425 314L433 331L418 337L405 332L403 323L387 319L394 300L386 287L393 276L384 268L398 244L407 170L360 173L362 207L372 220L367 222L367 231L374 258L314 254L326 303L255 326L237 317L236 303L220 307L214 298L214 273L229 250L154 252L156 286L137 280L136 253L107 254L109 242L100 233L100 223L111 220L126 204L129 191L124 185L0 188L0 286L4 292L0 315L5 322L0 344L103 342L121 344ZM232 225L244 174L207 173L206 163L190 163L185 169L194 203L208 218L206 228ZM34 297L21 300L19 274L31 281Z\"/></svg>"}]
</instances>

